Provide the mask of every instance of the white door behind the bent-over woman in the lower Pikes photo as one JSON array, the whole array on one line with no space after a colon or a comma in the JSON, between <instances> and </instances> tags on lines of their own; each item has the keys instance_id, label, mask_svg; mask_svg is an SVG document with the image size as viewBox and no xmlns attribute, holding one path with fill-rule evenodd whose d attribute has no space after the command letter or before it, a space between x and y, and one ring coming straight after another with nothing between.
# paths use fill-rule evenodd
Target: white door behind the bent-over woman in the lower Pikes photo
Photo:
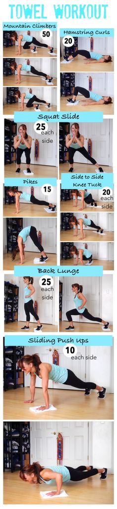
<instances>
[{"instance_id":1,"label":"white door behind the bent-over woman in the lower Pikes photo","mask_svg":"<svg viewBox=\"0 0 117 509\"><path fill-rule=\"evenodd\" d=\"M41 231L42 234L42 246L44 251L47 253L55 253L56 252L56 218L54 217L40 217L38 218L23 218L23 228L26 226L34 226L37 231ZM35 246L31 237L27 237L25 244L25 251L33 251L38 252L40 254L38 247Z\"/></svg>"}]
</instances>

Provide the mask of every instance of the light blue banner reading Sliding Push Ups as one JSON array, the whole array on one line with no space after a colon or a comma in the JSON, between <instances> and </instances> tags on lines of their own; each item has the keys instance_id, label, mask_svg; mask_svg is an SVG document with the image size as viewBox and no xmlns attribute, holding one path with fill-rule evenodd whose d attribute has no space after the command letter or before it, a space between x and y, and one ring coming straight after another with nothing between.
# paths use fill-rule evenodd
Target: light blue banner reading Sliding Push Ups
<instances>
[{"instance_id":1,"label":"light blue banner reading Sliding Push Ups","mask_svg":"<svg viewBox=\"0 0 117 509\"><path fill-rule=\"evenodd\" d=\"M36 336L32 334L26 335L6 335L5 336L5 346L45 346L47 345L54 345L54 346L60 346L64 347L67 344L71 345L80 345L82 347L88 345L90 346L113 346L113 338L111 335L96 335L96 336L89 336L89 335L55 335L55 336Z\"/></svg>"}]
</instances>

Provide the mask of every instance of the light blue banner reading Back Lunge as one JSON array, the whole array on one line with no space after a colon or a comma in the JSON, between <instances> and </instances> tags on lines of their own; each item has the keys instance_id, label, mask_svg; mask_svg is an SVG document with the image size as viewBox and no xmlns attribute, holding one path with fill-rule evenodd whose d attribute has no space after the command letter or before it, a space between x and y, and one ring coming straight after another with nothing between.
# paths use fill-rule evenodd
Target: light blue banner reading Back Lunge
<instances>
[{"instance_id":1,"label":"light blue banner reading Back Lunge","mask_svg":"<svg viewBox=\"0 0 117 509\"><path fill-rule=\"evenodd\" d=\"M56 265L55 267L51 267L49 265L47 265L47 267L45 266L40 266L40 265L35 265L35 266L32 266L32 265L28 265L28 266L18 266L18 265L15 265L14 266L14 275L15 276L27 276L28 274L31 274L32 276L103 276L103 266L100 265L100 267L96 267L96 266L82 266L82 267L69 267L69 266L60 266L60 265Z\"/></svg>"}]
</instances>

